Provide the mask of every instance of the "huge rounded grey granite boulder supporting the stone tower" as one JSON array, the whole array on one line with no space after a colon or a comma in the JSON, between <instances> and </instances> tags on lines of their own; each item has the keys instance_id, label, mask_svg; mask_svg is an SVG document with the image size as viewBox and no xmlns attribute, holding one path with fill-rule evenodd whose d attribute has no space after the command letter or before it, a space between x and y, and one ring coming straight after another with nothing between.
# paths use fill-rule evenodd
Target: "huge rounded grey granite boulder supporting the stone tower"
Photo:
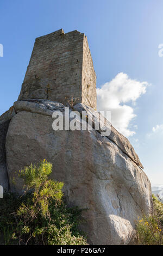
<instances>
[{"instance_id":1,"label":"huge rounded grey granite boulder supporting the stone tower","mask_svg":"<svg viewBox=\"0 0 163 256\"><path fill-rule=\"evenodd\" d=\"M81 228L90 244L134 243L135 220L149 214L152 197L151 184L129 141L112 126L110 137L95 130L54 131L52 113L65 113L58 102L17 101L14 108L5 146L11 190L22 191L15 171L47 159L53 163L51 178L65 184L67 205L87 209ZM71 111L83 108L76 105ZM11 183L14 177L16 185Z\"/></svg>"}]
</instances>

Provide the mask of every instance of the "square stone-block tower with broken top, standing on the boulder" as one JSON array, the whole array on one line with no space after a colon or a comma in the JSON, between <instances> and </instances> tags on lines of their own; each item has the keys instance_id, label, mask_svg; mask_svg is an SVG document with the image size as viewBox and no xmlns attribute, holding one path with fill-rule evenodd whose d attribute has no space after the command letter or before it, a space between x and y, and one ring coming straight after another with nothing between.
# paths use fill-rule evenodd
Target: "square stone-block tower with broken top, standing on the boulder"
<instances>
[{"instance_id":1,"label":"square stone-block tower with broken top, standing on the boulder","mask_svg":"<svg viewBox=\"0 0 163 256\"><path fill-rule=\"evenodd\" d=\"M96 109L96 74L87 38L62 29L36 38L18 100L84 103Z\"/></svg>"}]
</instances>

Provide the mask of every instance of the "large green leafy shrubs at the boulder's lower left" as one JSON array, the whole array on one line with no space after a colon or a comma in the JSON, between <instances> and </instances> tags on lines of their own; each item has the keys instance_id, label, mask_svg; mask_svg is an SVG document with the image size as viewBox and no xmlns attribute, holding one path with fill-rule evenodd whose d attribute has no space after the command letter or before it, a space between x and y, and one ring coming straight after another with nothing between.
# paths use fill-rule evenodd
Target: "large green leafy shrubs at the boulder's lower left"
<instances>
[{"instance_id":1,"label":"large green leafy shrubs at the boulder's lower left","mask_svg":"<svg viewBox=\"0 0 163 256\"><path fill-rule=\"evenodd\" d=\"M48 179L52 164L46 160L18 172L23 196L4 194L0 205L0 231L5 245L87 245L78 229L81 210L67 208L61 182Z\"/></svg>"}]
</instances>

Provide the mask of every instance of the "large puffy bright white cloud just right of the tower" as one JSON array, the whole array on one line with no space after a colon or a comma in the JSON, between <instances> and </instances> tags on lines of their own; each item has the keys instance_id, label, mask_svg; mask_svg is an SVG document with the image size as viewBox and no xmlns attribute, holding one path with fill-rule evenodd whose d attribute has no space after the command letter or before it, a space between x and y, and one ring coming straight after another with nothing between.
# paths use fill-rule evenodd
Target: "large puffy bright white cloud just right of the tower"
<instances>
[{"instance_id":1,"label":"large puffy bright white cloud just right of the tower","mask_svg":"<svg viewBox=\"0 0 163 256\"><path fill-rule=\"evenodd\" d=\"M111 123L124 136L129 137L135 134L129 128L131 120L136 117L133 107L124 103L136 100L146 93L147 82L131 80L123 72L116 75L110 82L97 88L97 109L98 111L111 111ZM136 127L135 127L136 128Z\"/></svg>"}]
</instances>

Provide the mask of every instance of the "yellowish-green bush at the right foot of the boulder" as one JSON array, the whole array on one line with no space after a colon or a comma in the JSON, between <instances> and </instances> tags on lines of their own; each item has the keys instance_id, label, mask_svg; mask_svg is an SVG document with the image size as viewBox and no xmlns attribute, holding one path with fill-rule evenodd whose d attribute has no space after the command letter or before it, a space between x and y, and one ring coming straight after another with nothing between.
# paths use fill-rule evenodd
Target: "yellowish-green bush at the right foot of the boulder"
<instances>
[{"instance_id":1,"label":"yellowish-green bush at the right foot of the boulder","mask_svg":"<svg viewBox=\"0 0 163 256\"><path fill-rule=\"evenodd\" d=\"M163 204L153 197L153 214L136 223L139 245L163 245Z\"/></svg>"}]
</instances>

